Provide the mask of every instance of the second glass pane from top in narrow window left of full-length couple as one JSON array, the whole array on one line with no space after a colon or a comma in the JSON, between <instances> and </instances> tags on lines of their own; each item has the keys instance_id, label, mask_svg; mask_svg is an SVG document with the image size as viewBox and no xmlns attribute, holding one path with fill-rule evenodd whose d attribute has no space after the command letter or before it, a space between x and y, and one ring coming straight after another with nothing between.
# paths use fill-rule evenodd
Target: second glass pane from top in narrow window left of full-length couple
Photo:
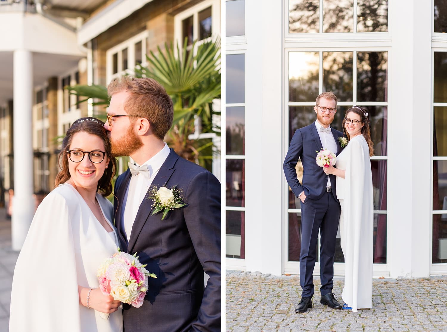
<instances>
[{"instance_id":1,"label":"second glass pane from top in narrow window left of full-length couple","mask_svg":"<svg viewBox=\"0 0 447 332\"><path fill-rule=\"evenodd\" d=\"M227 55L226 103L245 102L245 55Z\"/></svg>"}]
</instances>

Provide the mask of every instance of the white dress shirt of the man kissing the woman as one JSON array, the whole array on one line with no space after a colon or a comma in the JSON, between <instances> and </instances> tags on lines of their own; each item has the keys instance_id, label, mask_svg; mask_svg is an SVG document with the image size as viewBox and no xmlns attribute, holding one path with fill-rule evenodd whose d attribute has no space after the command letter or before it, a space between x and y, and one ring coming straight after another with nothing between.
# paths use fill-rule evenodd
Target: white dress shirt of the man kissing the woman
<instances>
[{"instance_id":1,"label":"white dress shirt of the man kissing the woman","mask_svg":"<svg viewBox=\"0 0 447 332\"><path fill-rule=\"evenodd\" d=\"M138 173L131 176L131 181L129 181L129 186L126 193L127 197L124 198L125 205L122 218L122 229L126 233L127 242L129 242L131 238L132 226L134 225L139 206L146 197L149 186L152 184L152 181L160 170L161 165L163 165L166 158L168 158L169 152L170 149L168 144L164 143L164 147L143 164L148 165L149 174ZM138 164L136 165L140 166Z\"/></svg>"}]
</instances>

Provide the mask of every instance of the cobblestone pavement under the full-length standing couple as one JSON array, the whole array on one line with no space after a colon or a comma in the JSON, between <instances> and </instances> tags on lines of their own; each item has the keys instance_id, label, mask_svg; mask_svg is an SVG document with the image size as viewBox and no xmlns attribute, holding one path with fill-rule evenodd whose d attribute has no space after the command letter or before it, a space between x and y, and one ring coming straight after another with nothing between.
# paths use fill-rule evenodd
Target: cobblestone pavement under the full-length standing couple
<instances>
[{"instance_id":1,"label":"cobblestone pavement under the full-length standing couple","mask_svg":"<svg viewBox=\"0 0 447 332\"><path fill-rule=\"evenodd\" d=\"M295 313L299 276L227 271L227 331L447 331L447 276L374 279L372 309L334 310L320 304L314 278L312 309ZM334 278L341 300L343 278Z\"/></svg>"}]
</instances>

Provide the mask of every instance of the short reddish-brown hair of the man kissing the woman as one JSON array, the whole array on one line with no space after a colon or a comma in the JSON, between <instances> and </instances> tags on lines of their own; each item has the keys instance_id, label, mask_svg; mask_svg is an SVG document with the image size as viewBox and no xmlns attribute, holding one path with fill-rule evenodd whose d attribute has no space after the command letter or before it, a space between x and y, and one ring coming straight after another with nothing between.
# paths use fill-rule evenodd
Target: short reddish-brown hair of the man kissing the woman
<instances>
[{"instance_id":1,"label":"short reddish-brown hair of the man kissing the woman","mask_svg":"<svg viewBox=\"0 0 447 332\"><path fill-rule=\"evenodd\" d=\"M152 133L164 139L174 118L173 103L164 87L152 78L131 76L116 78L107 87L110 98L122 91L130 93L124 103L124 110L128 114L148 119Z\"/></svg>"}]
</instances>

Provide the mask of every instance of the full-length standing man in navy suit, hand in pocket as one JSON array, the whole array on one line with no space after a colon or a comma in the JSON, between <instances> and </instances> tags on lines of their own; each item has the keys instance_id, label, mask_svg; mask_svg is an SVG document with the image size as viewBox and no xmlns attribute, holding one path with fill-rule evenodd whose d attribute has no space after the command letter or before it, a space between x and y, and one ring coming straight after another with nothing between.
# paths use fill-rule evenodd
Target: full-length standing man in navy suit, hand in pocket
<instances>
[{"instance_id":1,"label":"full-length standing man in navy suit, hand in pocket","mask_svg":"<svg viewBox=\"0 0 447 332\"><path fill-rule=\"evenodd\" d=\"M340 219L340 204L335 194L335 176L329 177L316 164L316 151L329 149L340 153L338 138L343 134L330 127L337 113L337 97L332 92L323 92L316 98L314 107L316 121L295 131L284 160L284 174L296 197L301 200L301 253L299 256L299 280L301 301L295 312L306 312L312 308L314 293L312 272L316 260L318 230L320 246L320 303L341 309L332 293L335 238ZM303 183L296 177L295 166L303 164Z\"/></svg>"}]
</instances>

